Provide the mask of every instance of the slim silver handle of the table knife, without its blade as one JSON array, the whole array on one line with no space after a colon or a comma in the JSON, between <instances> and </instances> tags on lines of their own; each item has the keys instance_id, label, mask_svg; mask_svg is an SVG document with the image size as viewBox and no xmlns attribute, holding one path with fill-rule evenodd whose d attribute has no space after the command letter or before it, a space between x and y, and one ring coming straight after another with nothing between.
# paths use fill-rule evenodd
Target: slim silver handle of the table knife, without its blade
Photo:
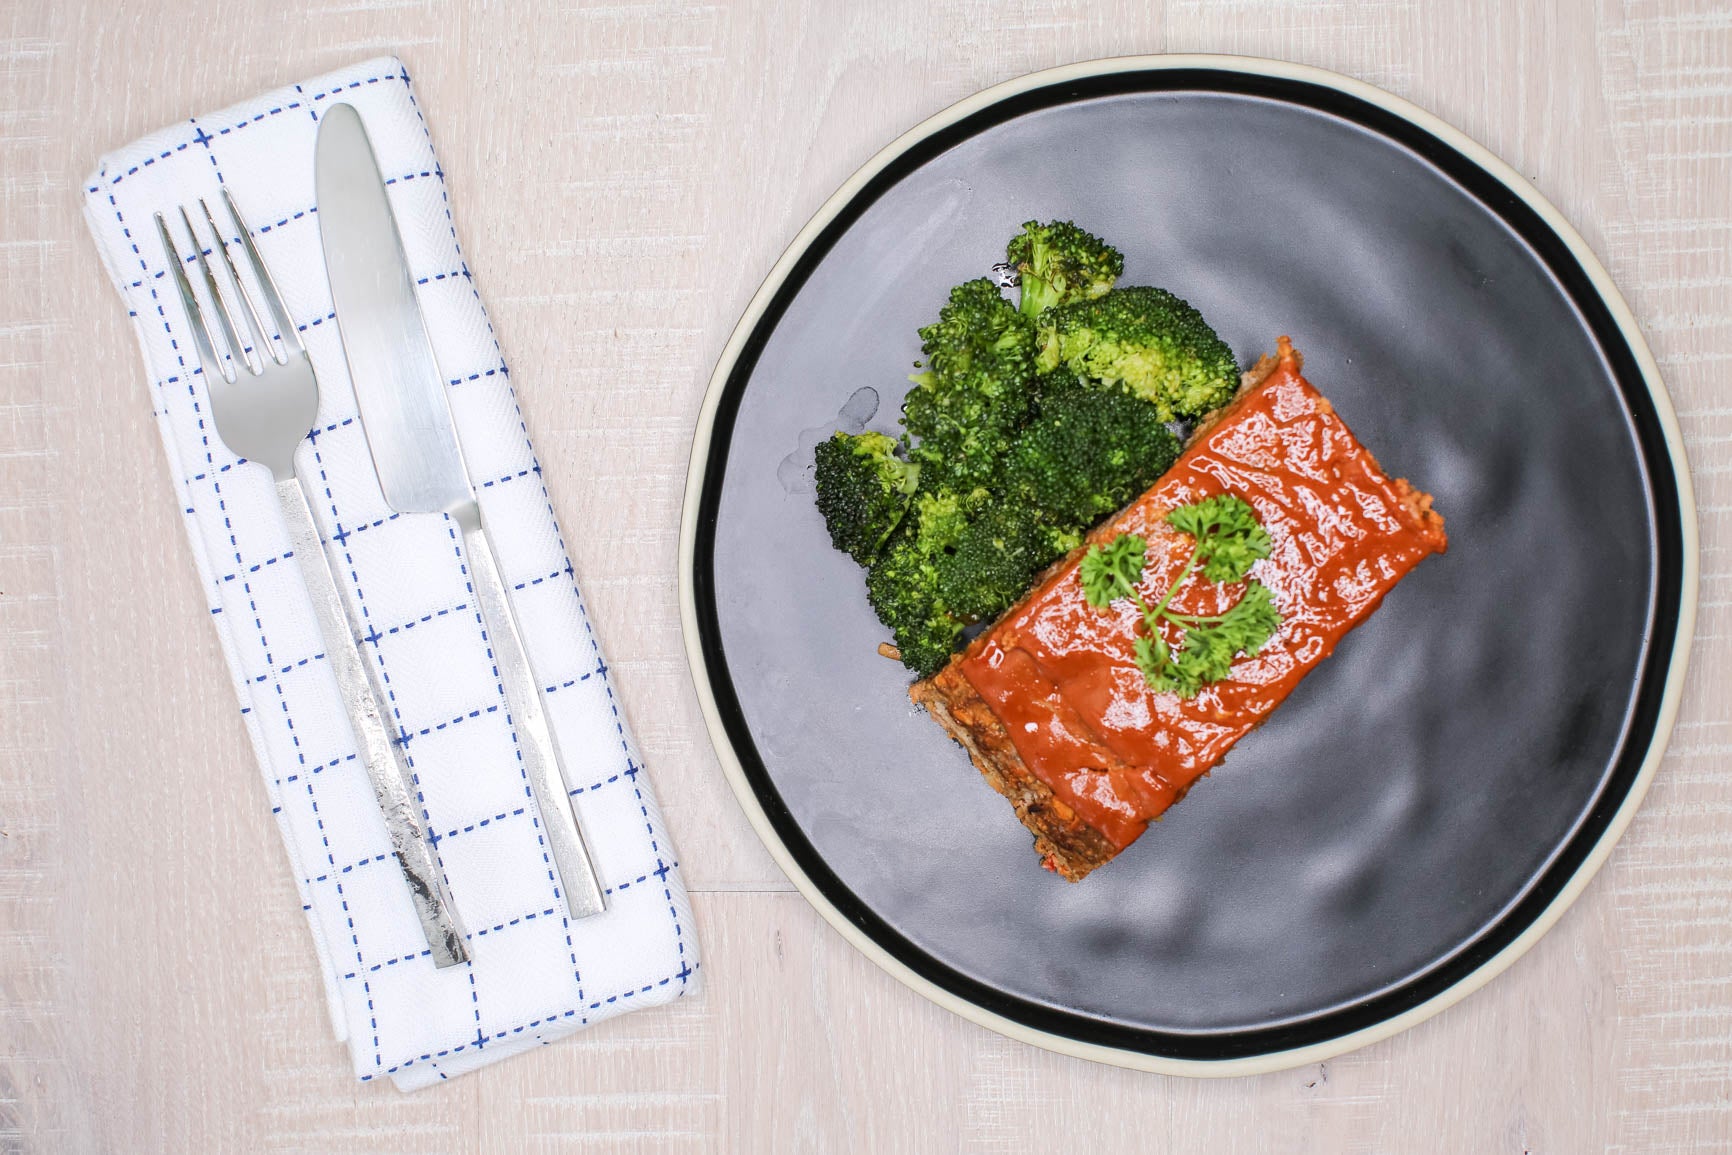
<instances>
[{"instance_id":1,"label":"slim silver handle of the table knife, without its blade","mask_svg":"<svg viewBox=\"0 0 1732 1155\"><path fill-rule=\"evenodd\" d=\"M535 795L537 809L540 809L542 833L553 852L559 892L565 895L565 906L572 918L599 914L606 909L606 900L601 894L601 883L596 880L596 866L584 843L584 831L577 823L577 810L572 807L572 783L565 776L559 743L553 736L547 712L542 708L542 691L535 681L535 670L530 667L528 651L523 648L523 632L518 630L511 597L499 577L499 563L494 561L494 549L487 542L481 507L478 502L459 506L452 511L452 519L462 530L462 556L469 565L469 584L475 587L487 639L494 648L494 665L499 668L506 707L511 710L511 722L518 734L523 772L530 779L530 791Z\"/></svg>"}]
</instances>

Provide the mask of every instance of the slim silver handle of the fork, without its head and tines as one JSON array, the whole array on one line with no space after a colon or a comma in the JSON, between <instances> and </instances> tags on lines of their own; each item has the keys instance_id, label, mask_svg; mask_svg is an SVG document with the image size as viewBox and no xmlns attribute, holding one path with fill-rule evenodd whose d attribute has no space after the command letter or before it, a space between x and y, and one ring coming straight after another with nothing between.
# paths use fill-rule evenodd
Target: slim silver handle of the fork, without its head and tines
<instances>
[{"instance_id":1,"label":"slim silver handle of the fork, without its head and tines","mask_svg":"<svg viewBox=\"0 0 1732 1155\"><path fill-rule=\"evenodd\" d=\"M367 767L367 781L372 783L372 793L379 800L385 831L391 838L391 852L404 871L404 881L409 883L409 900L416 907L416 918L421 921L428 947L433 951L433 965L443 968L468 963L469 949L464 944L457 911L445 892L433 852L421 835L416 807L409 798L409 767L404 765L402 752L385 729L379 696L372 689L367 663L355 644L355 632L350 629L348 611L343 608L343 594L336 587L331 561L319 542L319 526L313 523L313 511L307 506L300 478L277 480L277 504L282 506L282 519L289 526L289 545L294 549L307 592L312 596L313 616L319 620L319 634L324 639L326 663L343 693L343 707L355 727L360 758Z\"/></svg>"}]
</instances>

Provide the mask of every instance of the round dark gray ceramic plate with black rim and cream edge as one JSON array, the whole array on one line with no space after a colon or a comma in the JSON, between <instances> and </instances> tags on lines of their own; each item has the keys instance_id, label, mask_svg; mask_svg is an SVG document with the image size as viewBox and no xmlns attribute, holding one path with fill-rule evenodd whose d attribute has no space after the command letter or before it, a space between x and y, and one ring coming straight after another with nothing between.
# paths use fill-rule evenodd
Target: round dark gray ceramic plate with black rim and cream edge
<instances>
[{"instance_id":1,"label":"round dark gray ceramic plate with black rim and cream edge","mask_svg":"<svg viewBox=\"0 0 1732 1155\"><path fill-rule=\"evenodd\" d=\"M914 710L811 448L894 431L914 329L1074 218L1244 362L1292 334L1424 563L1166 821L1081 885ZM805 894L939 1001L1046 1046L1245 1070L1413 1022L1600 862L1675 708L1694 513L1671 410L1576 234L1365 85L1228 57L1031 76L890 145L800 234L712 383L688 648L741 802Z\"/></svg>"}]
</instances>

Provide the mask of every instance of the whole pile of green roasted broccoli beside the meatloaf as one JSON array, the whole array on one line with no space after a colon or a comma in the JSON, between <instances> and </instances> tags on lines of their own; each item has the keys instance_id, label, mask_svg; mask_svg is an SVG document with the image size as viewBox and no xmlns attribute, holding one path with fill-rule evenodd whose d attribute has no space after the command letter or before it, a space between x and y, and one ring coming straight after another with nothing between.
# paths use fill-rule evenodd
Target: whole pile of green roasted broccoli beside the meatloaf
<instances>
[{"instance_id":1,"label":"whole pile of green roasted broccoli beside the meatloaf","mask_svg":"<svg viewBox=\"0 0 1732 1155\"><path fill-rule=\"evenodd\" d=\"M949 661L1178 457L1166 423L1231 397L1233 355L1164 289L1114 287L1124 258L1070 222L1029 222L1006 249L1020 308L987 279L956 286L920 331L902 438L818 447L818 507L911 670Z\"/></svg>"}]
</instances>

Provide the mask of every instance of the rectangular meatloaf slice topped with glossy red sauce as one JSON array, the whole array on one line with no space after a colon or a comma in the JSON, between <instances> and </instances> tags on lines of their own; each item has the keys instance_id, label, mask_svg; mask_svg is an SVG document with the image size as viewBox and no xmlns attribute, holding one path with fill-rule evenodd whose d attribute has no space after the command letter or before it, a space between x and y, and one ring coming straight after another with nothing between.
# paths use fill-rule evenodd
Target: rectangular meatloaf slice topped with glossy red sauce
<instances>
[{"instance_id":1,"label":"rectangular meatloaf slice topped with glossy red sauce","mask_svg":"<svg viewBox=\"0 0 1732 1155\"><path fill-rule=\"evenodd\" d=\"M1292 343L1282 338L1278 348L1154 488L1089 535L1089 544L1121 533L1148 540L1143 596L1154 601L1193 545L1166 514L1223 492L1251 502L1273 542L1251 577L1282 613L1254 658L1240 656L1195 698L1154 693L1134 660L1140 615L1082 597L1084 544L909 691L1010 798L1043 864L1070 881L1134 842L1415 565L1448 545L1431 497L1384 474L1301 376ZM1242 589L1192 577L1173 608L1221 613Z\"/></svg>"}]
</instances>

